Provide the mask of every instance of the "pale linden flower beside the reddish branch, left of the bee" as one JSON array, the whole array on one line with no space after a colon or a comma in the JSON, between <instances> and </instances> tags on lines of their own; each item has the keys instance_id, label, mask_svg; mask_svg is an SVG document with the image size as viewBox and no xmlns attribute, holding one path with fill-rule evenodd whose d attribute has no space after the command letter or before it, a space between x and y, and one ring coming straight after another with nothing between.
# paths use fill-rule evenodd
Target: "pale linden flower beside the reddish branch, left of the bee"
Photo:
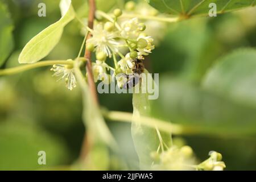
<instances>
[{"instance_id":1,"label":"pale linden flower beside the reddish branch, left of the bee","mask_svg":"<svg viewBox=\"0 0 256 182\"><path fill-rule=\"evenodd\" d=\"M94 81L102 80L107 77L106 71L109 70L109 65L105 61L96 60L96 63L92 63Z\"/></svg>"}]
</instances>

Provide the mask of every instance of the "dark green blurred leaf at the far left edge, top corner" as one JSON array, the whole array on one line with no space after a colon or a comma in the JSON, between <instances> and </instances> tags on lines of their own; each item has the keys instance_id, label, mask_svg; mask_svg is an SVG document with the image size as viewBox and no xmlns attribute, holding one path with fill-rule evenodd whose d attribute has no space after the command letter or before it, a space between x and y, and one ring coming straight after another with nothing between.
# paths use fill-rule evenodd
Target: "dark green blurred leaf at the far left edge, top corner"
<instances>
[{"instance_id":1,"label":"dark green blurred leaf at the far left edge, top corner","mask_svg":"<svg viewBox=\"0 0 256 182\"><path fill-rule=\"evenodd\" d=\"M13 22L7 6L0 2L0 67L10 55L14 47Z\"/></svg>"}]
</instances>

